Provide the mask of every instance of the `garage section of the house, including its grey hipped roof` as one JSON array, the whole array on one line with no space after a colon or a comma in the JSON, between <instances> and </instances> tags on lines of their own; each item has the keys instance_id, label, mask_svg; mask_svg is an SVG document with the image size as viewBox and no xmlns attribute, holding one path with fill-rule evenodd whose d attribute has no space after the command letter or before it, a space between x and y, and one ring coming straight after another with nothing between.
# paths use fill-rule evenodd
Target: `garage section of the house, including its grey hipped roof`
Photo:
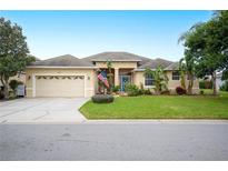
<instances>
[{"instance_id":1,"label":"garage section of the house, including its grey hipped roof","mask_svg":"<svg viewBox=\"0 0 228 171\"><path fill-rule=\"evenodd\" d=\"M91 61L66 54L36 61L26 69L28 98L78 98L95 94Z\"/></svg>"}]
</instances>

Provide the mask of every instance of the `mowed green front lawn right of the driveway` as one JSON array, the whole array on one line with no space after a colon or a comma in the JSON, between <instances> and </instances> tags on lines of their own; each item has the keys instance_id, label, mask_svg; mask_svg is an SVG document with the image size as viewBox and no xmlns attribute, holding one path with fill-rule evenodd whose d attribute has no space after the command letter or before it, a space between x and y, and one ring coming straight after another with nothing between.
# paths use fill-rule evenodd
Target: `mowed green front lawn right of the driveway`
<instances>
[{"instance_id":1,"label":"mowed green front lawn right of the driveway","mask_svg":"<svg viewBox=\"0 0 228 171\"><path fill-rule=\"evenodd\" d=\"M228 119L228 92L218 97L119 97L108 104L88 101L80 111L87 119Z\"/></svg>"}]
</instances>

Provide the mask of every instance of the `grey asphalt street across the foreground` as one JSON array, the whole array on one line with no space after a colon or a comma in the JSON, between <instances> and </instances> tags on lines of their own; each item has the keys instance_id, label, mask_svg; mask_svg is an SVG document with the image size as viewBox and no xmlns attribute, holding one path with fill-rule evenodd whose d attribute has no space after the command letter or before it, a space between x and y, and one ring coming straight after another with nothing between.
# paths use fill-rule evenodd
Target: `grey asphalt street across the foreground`
<instances>
[{"instance_id":1,"label":"grey asphalt street across the foreground","mask_svg":"<svg viewBox=\"0 0 228 171\"><path fill-rule=\"evenodd\" d=\"M228 160L228 122L0 124L0 160Z\"/></svg>"}]
</instances>

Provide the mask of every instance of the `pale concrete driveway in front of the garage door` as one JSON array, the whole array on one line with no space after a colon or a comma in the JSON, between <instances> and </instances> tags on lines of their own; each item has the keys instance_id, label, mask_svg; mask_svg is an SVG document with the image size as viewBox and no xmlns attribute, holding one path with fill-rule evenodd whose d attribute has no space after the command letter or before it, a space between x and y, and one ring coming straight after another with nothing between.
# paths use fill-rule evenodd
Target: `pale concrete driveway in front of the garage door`
<instances>
[{"instance_id":1,"label":"pale concrete driveway in front of the garage door","mask_svg":"<svg viewBox=\"0 0 228 171\"><path fill-rule=\"evenodd\" d=\"M0 123L83 122L87 98L36 98L0 102Z\"/></svg>"}]
</instances>

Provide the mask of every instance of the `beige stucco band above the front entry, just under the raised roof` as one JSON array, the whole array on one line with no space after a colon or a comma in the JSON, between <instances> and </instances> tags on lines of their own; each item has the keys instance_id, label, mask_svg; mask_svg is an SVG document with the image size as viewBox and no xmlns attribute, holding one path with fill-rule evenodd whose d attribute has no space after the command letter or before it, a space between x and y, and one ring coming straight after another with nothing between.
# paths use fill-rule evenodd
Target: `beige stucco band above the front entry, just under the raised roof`
<instances>
[{"instance_id":1,"label":"beige stucco band above the front entry, just under the raised roof","mask_svg":"<svg viewBox=\"0 0 228 171\"><path fill-rule=\"evenodd\" d=\"M121 62L111 62L112 68L137 68L137 62L121 61ZM96 62L98 68L107 68L106 62Z\"/></svg>"}]
</instances>

